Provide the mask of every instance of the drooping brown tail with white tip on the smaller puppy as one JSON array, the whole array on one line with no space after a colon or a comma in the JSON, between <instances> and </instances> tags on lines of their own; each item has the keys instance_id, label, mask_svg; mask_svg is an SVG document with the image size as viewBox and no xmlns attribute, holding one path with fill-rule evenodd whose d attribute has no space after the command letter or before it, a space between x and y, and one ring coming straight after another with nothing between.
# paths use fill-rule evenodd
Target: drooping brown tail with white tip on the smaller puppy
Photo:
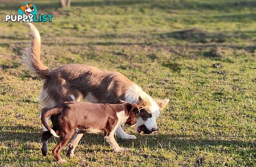
<instances>
[{"instance_id":1,"label":"drooping brown tail with white tip on the smaller puppy","mask_svg":"<svg viewBox=\"0 0 256 167\"><path fill-rule=\"evenodd\" d=\"M60 136L58 136L56 134L56 132L54 132L54 130L47 124L46 122L46 118L48 118L49 116L55 116L59 113L62 112L62 107L56 107L56 108L42 108L42 116L41 116L41 121L42 124L45 126L45 128L56 138L59 138Z\"/></svg>"}]
</instances>

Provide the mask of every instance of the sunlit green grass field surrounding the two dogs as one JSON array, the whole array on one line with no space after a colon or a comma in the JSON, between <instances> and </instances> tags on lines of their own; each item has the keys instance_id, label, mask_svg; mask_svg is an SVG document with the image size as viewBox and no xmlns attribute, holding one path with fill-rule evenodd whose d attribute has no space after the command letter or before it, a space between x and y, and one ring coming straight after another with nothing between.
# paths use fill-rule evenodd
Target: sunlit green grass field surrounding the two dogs
<instances>
[{"instance_id":1,"label":"sunlit green grass field surrounding the two dogs","mask_svg":"<svg viewBox=\"0 0 256 167\"><path fill-rule=\"evenodd\" d=\"M24 23L4 22L23 1L0 3L0 166L54 166L41 155L42 81L20 62L30 45ZM256 166L255 0L33 0L51 23L34 23L41 60L119 71L152 97L170 98L159 131L117 139L85 134L63 166ZM221 68L212 64L220 63Z\"/></svg>"}]
</instances>

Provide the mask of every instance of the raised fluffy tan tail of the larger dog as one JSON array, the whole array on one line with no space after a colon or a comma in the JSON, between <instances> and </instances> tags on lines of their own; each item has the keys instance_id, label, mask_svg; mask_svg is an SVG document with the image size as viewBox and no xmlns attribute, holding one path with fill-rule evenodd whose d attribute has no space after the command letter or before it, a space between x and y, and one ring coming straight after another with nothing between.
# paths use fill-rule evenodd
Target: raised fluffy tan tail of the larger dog
<instances>
[{"instance_id":1,"label":"raised fluffy tan tail of the larger dog","mask_svg":"<svg viewBox=\"0 0 256 167\"><path fill-rule=\"evenodd\" d=\"M33 39L30 47L26 49L25 55L22 57L22 62L38 78L46 79L50 75L51 70L40 61L40 34L33 24L28 24L33 32Z\"/></svg>"}]
</instances>

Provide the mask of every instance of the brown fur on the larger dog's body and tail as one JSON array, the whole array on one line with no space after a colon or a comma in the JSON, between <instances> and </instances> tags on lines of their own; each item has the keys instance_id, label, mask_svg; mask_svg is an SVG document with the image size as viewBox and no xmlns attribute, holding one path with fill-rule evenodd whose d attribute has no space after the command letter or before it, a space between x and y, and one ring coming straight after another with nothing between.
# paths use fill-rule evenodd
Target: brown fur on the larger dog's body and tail
<instances>
[{"instance_id":1,"label":"brown fur on the larger dog's body and tail","mask_svg":"<svg viewBox=\"0 0 256 167\"><path fill-rule=\"evenodd\" d=\"M42 107L60 106L65 101L79 101L81 97L93 103L111 104L119 99L126 100L125 96L134 83L118 72L78 64L64 65L51 71L43 65L40 61L40 34L32 24L29 23L29 25L34 35L30 48L23 57L23 62L32 73L44 80L39 99ZM139 100L138 105L141 109L150 106L148 99L143 97L139 99L135 101ZM144 116L143 113L146 114L142 112L142 116ZM42 133L43 155L47 152L49 136L51 136L50 132Z\"/></svg>"}]
</instances>

